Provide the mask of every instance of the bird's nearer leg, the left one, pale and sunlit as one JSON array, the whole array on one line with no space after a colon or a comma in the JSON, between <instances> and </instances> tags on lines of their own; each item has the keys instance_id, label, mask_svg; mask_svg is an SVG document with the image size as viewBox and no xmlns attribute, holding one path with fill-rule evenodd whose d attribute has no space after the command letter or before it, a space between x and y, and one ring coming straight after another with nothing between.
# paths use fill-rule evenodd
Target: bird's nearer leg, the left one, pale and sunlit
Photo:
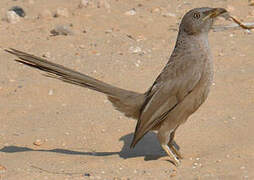
<instances>
[{"instance_id":1,"label":"bird's nearer leg, the left one, pale and sunlit","mask_svg":"<svg viewBox=\"0 0 254 180\"><path fill-rule=\"evenodd\" d=\"M175 166L180 165L180 160L177 157L176 154L172 151L172 149L169 148L168 142L169 142L169 136L168 133L159 131L157 134L158 140L160 142L161 147L164 149L164 151L168 154L168 156L172 159L172 162Z\"/></svg>"}]
</instances>

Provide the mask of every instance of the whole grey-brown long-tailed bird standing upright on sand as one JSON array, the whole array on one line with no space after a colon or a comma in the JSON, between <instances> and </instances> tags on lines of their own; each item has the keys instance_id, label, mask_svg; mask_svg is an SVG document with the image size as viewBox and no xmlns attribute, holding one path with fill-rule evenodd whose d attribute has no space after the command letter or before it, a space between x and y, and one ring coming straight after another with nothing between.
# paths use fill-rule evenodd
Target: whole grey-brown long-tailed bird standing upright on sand
<instances>
[{"instance_id":1,"label":"whole grey-brown long-tailed bird standing upright on sand","mask_svg":"<svg viewBox=\"0 0 254 180\"><path fill-rule=\"evenodd\" d=\"M5 51L17 56L16 61L52 78L105 94L116 110L137 119L131 148L149 131L155 131L170 161L178 166L183 156L174 140L175 132L208 97L214 74L208 33L216 17L225 13L224 8L189 10L181 20L168 62L144 93L113 86L20 50Z\"/></svg>"}]
</instances>

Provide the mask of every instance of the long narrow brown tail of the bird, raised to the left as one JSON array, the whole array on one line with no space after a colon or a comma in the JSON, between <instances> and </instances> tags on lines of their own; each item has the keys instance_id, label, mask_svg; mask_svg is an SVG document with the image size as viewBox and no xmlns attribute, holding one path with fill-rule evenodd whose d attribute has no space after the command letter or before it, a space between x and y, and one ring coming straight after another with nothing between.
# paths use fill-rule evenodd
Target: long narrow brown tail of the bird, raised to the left
<instances>
[{"instance_id":1,"label":"long narrow brown tail of the bird, raised to the left","mask_svg":"<svg viewBox=\"0 0 254 180\"><path fill-rule=\"evenodd\" d=\"M48 72L50 74L49 77L104 93L108 96L108 99L114 107L127 117L135 119L139 117L141 106L145 101L144 94L112 86L85 74L16 49L5 49L5 51L17 56L19 59L16 59L16 61L20 63Z\"/></svg>"}]
</instances>

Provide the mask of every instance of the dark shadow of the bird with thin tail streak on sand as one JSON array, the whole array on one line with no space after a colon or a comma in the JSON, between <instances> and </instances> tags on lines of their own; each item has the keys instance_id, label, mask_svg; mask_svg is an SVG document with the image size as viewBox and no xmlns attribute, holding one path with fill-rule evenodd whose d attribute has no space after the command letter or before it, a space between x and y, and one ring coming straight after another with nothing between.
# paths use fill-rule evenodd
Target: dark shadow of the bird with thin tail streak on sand
<instances>
[{"instance_id":1,"label":"dark shadow of the bird with thin tail streak on sand","mask_svg":"<svg viewBox=\"0 0 254 180\"><path fill-rule=\"evenodd\" d=\"M166 156L165 152L162 150L160 144L157 141L155 133L148 133L136 146L134 149L130 148L130 144L133 138L133 133L122 136L119 140L124 142L122 150L120 152L84 152L75 151L69 149L32 149L28 147L20 146L5 146L0 149L0 152L4 153L19 153L26 151L33 152L53 152L67 155L85 155L85 156L112 156L119 155L123 159L134 158L134 157L144 157L146 161L156 160L160 157Z\"/></svg>"}]
</instances>

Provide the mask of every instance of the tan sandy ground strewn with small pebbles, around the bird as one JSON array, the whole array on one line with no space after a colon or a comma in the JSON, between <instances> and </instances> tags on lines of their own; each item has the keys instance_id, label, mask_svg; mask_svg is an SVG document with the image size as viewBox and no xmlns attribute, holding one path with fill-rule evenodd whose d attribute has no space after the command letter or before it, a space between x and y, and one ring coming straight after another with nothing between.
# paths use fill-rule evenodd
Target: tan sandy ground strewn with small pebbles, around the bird
<instances>
[{"instance_id":1,"label":"tan sandy ground strewn with small pebbles, around the bird","mask_svg":"<svg viewBox=\"0 0 254 180\"><path fill-rule=\"evenodd\" d=\"M44 55L139 92L167 62L189 9L224 7L254 21L247 0L107 0L86 8L78 0L1 0L0 16L13 5L26 18L1 20L1 47ZM67 8L67 17L47 15L58 8ZM133 8L136 14L126 15ZM56 25L69 24L73 35L50 36ZM0 179L254 179L254 34L230 30L209 38L214 84L176 134L185 157L178 168L154 133L129 149L136 121L113 110L104 95L44 77L1 50Z\"/></svg>"}]
</instances>

